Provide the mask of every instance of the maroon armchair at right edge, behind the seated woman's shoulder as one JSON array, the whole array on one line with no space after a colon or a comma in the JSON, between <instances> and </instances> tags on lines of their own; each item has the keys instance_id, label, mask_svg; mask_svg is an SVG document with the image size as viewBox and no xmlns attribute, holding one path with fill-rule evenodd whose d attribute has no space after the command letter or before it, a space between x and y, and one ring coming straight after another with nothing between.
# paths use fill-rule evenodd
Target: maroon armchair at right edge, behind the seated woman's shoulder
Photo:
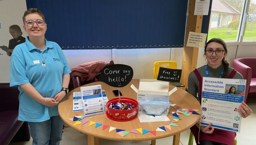
<instances>
[{"instance_id":1,"label":"maroon armchair at right edge, behind the seated woman's shoulder","mask_svg":"<svg viewBox=\"0 0 256 145\"><path fill-rule=\"evenodd\" d=\"M247 81L244 100L256 97L256 57L236 58L233 60L233 68Z\"/></svg>"}]
</instances>

